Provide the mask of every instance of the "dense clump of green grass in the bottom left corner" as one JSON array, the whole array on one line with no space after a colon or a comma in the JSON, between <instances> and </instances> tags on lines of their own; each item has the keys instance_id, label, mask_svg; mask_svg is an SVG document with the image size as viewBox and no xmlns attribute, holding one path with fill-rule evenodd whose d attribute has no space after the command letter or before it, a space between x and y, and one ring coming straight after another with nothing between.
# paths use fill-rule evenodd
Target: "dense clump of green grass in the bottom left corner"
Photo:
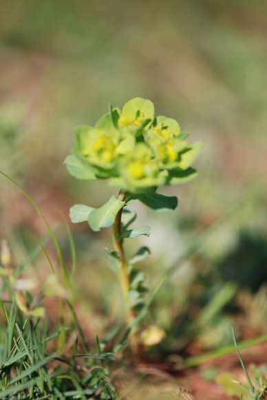
<instances>
[{"instance_id":1,"label":"dense clump of green grass in the bottom left corner","mask_svg":"<svg viewBox=\"0 0 267 400\"><path fill-rule=\"evenodd\" d=\"M7 321L0 329L1 398L87 399L89 395L94 399L116 398L109 369L105 367L114 359L111 353L103 357L87 356L83 368L88 372L81 374L75 358L69 361L62 352L49 350L66 328L48 334L46 323L25 319L14 303L10 309L3 307Z\"/></svg>"}]
</instances>

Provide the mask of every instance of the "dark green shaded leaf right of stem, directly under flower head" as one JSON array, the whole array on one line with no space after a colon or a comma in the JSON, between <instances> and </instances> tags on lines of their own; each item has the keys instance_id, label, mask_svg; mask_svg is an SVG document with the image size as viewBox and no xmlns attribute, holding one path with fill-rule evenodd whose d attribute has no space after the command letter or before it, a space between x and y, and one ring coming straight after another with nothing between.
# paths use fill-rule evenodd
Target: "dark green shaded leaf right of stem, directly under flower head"
<instances>
[{"instance_id":1,"label":"dark green shaded leaf right of stem, directly under flower head","mask_svg":"<svg viewBox=\"0 0 267 400\"><path fill-rule=\"evenodd\" d=\"M134 197L153 210L175 210L178 199L175 196L164 196L158 193L141 193Z\"/></svg>"}]
</instances>

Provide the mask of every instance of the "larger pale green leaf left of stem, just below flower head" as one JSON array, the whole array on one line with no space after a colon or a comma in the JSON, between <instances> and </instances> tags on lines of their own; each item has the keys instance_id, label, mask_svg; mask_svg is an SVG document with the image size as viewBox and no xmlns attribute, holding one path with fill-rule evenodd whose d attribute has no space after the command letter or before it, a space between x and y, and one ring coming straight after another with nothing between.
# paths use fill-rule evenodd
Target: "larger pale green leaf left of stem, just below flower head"
<instances>
[{"instance_id":1,"label":"larger pale green leaf left of stem, just below flower head","mask_svg":"<svg viewBox=\"0 0 267 400\"><path fill-rule=\"evenodd\" d=\"M125 206L125 201L118 200L114 195L100 208L95 208L88 218L89 226L98 232L101 228L109 228L114 224L118 211Z\"/></svg>"}]
</instances>

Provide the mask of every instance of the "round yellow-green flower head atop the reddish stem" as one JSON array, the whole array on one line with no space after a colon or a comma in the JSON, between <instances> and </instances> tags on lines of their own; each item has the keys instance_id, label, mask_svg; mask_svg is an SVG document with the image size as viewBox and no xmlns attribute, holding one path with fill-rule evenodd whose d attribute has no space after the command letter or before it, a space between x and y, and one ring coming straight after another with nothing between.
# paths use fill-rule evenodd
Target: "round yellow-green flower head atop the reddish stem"
<instances>
[{"instance_id":1,"label":"round yellow-green flower head atop the reddish stem","mask_svg":"<svg viewBox=\"0 0 267 400\"><path fill-rule=\"evenodd\" d=\"M186 136L177 121L155 117L153 103L138 97L121 111L111 108L96 126L78 127L72 165L65 163L81 179L110 179L112 187L144 192L193 177L202 145L189 145Z\"/></svg>"}]
</instances>

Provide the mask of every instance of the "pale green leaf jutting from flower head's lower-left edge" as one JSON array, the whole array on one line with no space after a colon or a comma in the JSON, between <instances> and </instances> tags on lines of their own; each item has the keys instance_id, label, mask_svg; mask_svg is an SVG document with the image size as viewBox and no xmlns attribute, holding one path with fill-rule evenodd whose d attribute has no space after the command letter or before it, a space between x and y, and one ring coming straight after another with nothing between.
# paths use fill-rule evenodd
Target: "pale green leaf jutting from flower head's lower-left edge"
<instances>
[{"instance_id":1,"label":"pale green leaf jutting from flower head's lower-left edge","mask_svg":"<svg viewBox=\"0 0 267 400\"><path fill-rule=\"evenodd\" d=\"M96 179L94 169L84 157L69 154L64 161L68 172L77 179Z\"/></svg>"}]
</instances>

